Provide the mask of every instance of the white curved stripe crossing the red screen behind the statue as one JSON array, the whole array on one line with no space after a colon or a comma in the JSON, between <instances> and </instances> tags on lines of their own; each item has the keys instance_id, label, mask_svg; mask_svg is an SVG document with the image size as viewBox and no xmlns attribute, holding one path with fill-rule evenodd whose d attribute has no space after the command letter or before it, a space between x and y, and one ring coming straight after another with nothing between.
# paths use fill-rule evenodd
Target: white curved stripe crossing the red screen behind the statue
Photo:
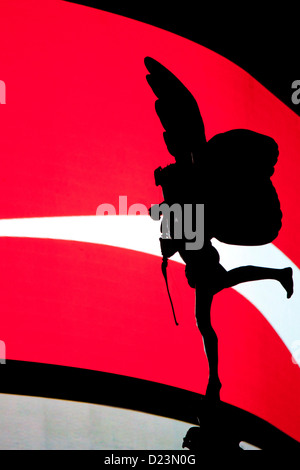
<instances>
[{"instance_id":1,"label":"white curved stripe crossing the red screen behind the statue","mask_svg":"<svg viewBox=\"0 0 300 470\"><path fill-rule=\"evenodd\" d=\"M0 236L60 239L105 244L161 256L160 223L145 216L78 216L0 220ZM300 270L274 245L240 247L214 241L226 269L243 265L274 268L290 266L295 293L286 298L276 281L247 282L235 290L248 299L268 320L300 365ZM177 254L172 258L182 263ZM242 315L242 312L241 312ZM298 349L296 349L298 348Z\"/></svg>"}]
</instances>

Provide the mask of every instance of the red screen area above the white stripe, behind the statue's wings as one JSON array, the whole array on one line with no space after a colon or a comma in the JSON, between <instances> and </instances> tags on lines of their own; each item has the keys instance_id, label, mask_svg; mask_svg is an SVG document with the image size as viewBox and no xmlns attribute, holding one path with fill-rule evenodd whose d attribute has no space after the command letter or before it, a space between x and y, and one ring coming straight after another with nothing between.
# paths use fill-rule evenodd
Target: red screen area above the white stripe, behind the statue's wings
<instances>
[{"instance_id":1,"label":"red screen area above the white stripe, behind the statue's wings","mask_svg":"<svg viewBox=\"0 0 300 470\"><path fill-rule=\"evenodd\" d=\"M284 214L276 244L299 262L299 117L247 73L191 41L61 1L1 2L0 216L93 215L102 202L160 199L153 170L172 161L146 82L163 63L198 101L207 138L233 128L272 136Z\"/></svg>"}]
</instances>

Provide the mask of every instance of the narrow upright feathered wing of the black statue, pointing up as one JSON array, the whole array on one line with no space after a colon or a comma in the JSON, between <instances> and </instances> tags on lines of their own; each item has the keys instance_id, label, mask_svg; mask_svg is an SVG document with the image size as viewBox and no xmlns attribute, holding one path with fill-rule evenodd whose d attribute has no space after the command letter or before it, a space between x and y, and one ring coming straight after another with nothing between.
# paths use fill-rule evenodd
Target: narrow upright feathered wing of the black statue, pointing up
<instances>
[{"instance_id":1,"label":"narrow upright feathered wing of the black statue, pointing up","mask_svg":"<svg viewBox=\"0 0 300 470\"><path fill-rule=\"evenodd\" d=\"M206 143L203 120L197 102L189 90L167 68L151 57L145 58L150 72L147 81L158 100L157 115L165 129L164 140L176 161L201 157Z\"/></svg>"}]
</instances>

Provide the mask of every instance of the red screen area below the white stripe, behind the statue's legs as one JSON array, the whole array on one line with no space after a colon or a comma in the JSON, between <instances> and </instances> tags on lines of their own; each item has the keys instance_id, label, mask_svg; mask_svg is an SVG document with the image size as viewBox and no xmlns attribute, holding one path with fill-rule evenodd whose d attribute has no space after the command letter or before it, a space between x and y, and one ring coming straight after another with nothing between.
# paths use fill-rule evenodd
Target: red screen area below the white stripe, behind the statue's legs
<instances>
[{"instance_id":1,"label":"red screen area below the white stripe, behind the statue's legs","mask_svg":"<svg viewBox=\"0 0 300 470\"><path fill-rule=\"evenodd\" d=\"M6 238L0 247L1 337L8 359L205 393L207 361L183 266L170 265L177 327L157 257L38 239ZM299 368L269 323L230 289L215 297L212 321L219 336L221 399L299 439Z\"/></svg>"}]
</instances>

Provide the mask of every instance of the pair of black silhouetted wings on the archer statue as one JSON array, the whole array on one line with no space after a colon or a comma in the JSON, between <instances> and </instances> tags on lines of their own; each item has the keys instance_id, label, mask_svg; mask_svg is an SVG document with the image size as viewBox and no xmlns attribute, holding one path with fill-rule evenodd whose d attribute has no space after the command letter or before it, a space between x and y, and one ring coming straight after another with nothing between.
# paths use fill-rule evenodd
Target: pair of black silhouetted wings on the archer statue
<instances>
[{"instance_id":1,"label":"pair of black silhouetted wings on the archer statue","mask_svg":"<svg viewBox=\"0 0 300 470\"><path fill-rule=\"evenodd\" d=\"M187 161L192 153L198 163L187 175L181 167L174 172L170 194L176 195L176 202L205 204L209 238L233 245L272 242L282 218L270 179L278 157L276 142L247 129L227 131L206 142L202 117L189 90L156 60L146 57L145 65L169 152L176 161Z\"/></svg>"}]
</instances>

